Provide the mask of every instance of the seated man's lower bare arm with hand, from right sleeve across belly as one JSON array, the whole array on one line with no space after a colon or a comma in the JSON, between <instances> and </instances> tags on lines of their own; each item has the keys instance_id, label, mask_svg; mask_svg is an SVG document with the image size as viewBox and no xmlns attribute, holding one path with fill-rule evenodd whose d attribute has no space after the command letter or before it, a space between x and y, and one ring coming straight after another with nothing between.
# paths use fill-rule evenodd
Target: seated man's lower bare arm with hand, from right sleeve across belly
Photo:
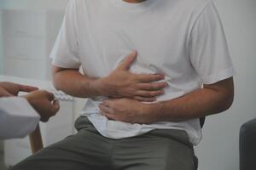
<instances>
[{"instance_id":1,"label":"seated man's lower bare arm with hand, from right sleeve across belly","mask_svg":"<svg viewBox=\"0 0 256 170\"><path fill-rule=\"evenodd\" d=\"M131 99L107 99L100 108L108 118L122 122L181 122L226 111L234 98L233 78L195 90L180 98L142 104Z\"/></svg>"}]
</instances>

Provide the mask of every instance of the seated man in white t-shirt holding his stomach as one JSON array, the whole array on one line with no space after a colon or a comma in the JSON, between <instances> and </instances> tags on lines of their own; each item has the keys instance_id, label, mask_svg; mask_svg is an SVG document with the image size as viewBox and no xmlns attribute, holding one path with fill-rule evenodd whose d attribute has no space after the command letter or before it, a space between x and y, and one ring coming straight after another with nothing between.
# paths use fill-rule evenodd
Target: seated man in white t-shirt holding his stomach
<instances>
[{"instance_id":1,"label":"seated man in white t-shirt holding his stomach","mask_svg":"<svg viewBox=\"0 0 256 170\"><path fill-rule=\"evenodd\" d=\"M233 102L212 0L70 1L51 57L55 88L89 98L79 133L14 169L192 170L199 118Z\"/></svg>"}]
</instances>

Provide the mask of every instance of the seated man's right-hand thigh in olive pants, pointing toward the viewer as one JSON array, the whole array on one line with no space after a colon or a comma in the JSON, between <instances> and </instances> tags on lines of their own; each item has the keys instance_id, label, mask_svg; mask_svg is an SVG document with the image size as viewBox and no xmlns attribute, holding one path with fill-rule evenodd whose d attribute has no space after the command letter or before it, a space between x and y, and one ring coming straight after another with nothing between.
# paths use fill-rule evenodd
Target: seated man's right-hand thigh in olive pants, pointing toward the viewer
<instances>
[{"instance_id":1,"label":"seated man's right-hand thigh in olive pants, pointing toward the viewer","mask_svg":"<svg viewBox=\"0 0 256 170\"><path fill-rule=\"evenodd\" d=\"M180 130L156 130L114 144L113 162L119 170L195 170L194 150Z\"/></svg>"}]
</instances>

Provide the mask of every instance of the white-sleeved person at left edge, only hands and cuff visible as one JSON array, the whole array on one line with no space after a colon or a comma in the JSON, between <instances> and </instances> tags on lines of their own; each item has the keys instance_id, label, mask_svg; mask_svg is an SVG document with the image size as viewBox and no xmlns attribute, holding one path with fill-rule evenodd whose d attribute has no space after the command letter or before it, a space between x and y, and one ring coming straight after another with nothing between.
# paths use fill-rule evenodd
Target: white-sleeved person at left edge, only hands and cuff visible
<instances>
[{"instance_id":1,"label":"white-sleeved person at left edge, only hands and cuff visible","mask_svg":"<svg viewBox=\"0 0 256 170\"><path fill-rule=\"evenodd\" d=\"M29 92L15 97L19 92ZM47 122L59 111L54 95L12 82L0 82L0 139L22 138L32 133L39 120Z\"/></svg>"}]
</instances>

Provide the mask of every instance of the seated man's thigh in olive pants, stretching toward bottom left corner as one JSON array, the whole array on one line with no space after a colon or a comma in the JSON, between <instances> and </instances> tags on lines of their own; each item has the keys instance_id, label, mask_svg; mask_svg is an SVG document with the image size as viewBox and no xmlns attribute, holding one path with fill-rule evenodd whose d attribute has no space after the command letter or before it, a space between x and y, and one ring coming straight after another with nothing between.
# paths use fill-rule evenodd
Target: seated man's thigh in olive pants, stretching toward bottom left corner
<instances>
[{"instance_id":1,"label":"seated man's thigh in olive pants, stretching toward bottom left corner","mask_svg":"<svg viewBox=\"0 0 256 170\"><path fill-rule=\"evenodd\" d=\"M106 170L111 144L98 133L79 133L40 150L11 170Z\"/></svg>"}]
</instances>

